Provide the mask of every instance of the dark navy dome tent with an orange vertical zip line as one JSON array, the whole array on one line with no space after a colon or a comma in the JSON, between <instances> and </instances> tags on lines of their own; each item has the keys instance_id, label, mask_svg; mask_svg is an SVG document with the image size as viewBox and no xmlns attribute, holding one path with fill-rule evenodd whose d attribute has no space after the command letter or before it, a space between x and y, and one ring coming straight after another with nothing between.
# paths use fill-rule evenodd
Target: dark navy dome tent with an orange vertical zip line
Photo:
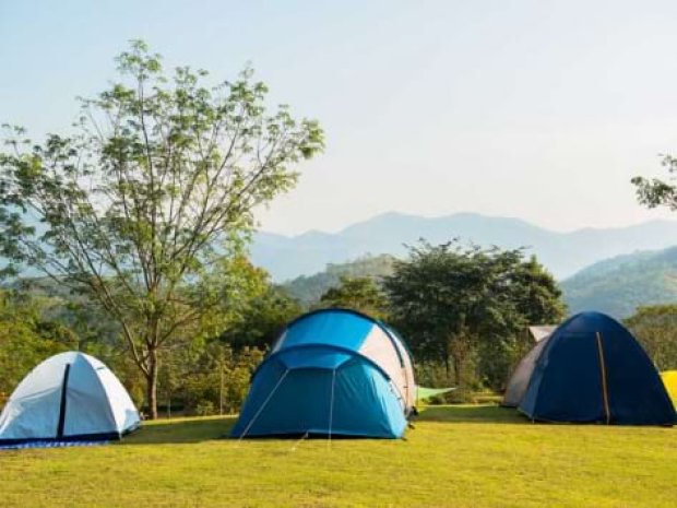
<instances>
[{"instance_id":1,"label":"dark navy dome tent with an orange vertical zip line","mask_svg":"<svg viewBox=\"0 0 677 508\"><path fill-rule=\"evenodd\" d=\"M519 409L549 422L676 422L644 350L622 324L599 312L573 316L547 339Z\"/></svg>"}]
</instances>

